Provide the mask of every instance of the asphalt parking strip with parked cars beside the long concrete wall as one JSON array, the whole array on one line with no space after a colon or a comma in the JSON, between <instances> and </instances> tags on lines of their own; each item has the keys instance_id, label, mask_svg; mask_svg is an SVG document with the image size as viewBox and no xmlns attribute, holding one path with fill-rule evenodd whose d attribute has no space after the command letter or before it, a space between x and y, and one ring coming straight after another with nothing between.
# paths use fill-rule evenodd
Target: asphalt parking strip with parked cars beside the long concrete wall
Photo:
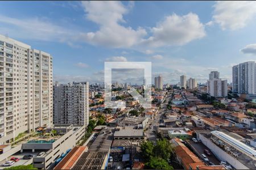
<instances>
[{"instance_id":1,"label":"asphalt parking strip with parked cars beside the long concrete wall","mask_svg":"<svg viewBox=\"0 0 256 170\"><path fill-rule=\"evenodd\" d=\"M196 142L193 142L192 140L187 140L186 142L188 142L189 144L188 147L191 148L191 150L194 151L197 156L200 155L199 158L201 158L201 154L204 154L209 159L209 162L212 162L214 165L220 164L220 160L218 160L216 156L214 156L213 153L209 150L209 148L206 147L203 143L201 142L196 143ZM207 154L205 154L204 150L210 151L211 155L208 156Z\"/></svg>"}]
</instances>

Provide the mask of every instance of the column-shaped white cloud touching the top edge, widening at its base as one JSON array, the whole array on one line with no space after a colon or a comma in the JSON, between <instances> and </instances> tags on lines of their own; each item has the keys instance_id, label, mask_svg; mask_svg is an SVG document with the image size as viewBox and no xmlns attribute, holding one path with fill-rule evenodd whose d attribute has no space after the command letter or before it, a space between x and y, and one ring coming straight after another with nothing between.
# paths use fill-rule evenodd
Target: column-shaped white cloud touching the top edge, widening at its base
<instances>
[{"instance_id":1,"label":"column-shaped white cloud touching the top edge, widening at its base","mask_svg":"<svg viewBox=\"0 0 256 170\"><path fill-rule=\"evenodd\" d=\"M129 48L147 35L143 28L123 27L123 14L128 10L119 1L82 1L86 18L100 25L96 32L82 33L82 38L93 45Z\"/></svg>"}]
</instances>

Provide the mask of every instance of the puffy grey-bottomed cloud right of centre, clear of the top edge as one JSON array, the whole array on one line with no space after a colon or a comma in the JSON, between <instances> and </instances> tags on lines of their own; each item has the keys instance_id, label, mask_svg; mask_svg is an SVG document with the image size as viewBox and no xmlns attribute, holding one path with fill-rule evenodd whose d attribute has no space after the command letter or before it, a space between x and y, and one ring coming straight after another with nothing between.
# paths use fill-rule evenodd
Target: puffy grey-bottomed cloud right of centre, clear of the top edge
<instances>
[{"instance_id":1,"label":"puffy grey-bottomed cloud right of centre, clear of the top edge","mask_svg":"<svg viewBox=\"0 0 256 170\"><path fill-rule=\"evenodd\" d=\"M151 29L153 35L143 41L151 46L184 45L205 36L204 24L193 13L167 16L163 22Z\"/></svg>"}]
</instances>

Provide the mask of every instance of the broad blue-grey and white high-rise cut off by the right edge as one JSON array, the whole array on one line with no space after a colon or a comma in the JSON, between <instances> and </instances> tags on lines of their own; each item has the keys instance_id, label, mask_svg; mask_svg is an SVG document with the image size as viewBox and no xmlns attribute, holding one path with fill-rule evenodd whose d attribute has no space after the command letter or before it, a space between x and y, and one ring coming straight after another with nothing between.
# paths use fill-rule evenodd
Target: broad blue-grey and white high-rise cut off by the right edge
<instances>
[{"instance_id":1,"label":"broad blue-grey and white high-rise cut off by the right edge","mask_svg":"<svg viewBox=\"0 0 256 170\"><path fill-rule=\"evenodd\" d=\"M248 61L232 67L233 92L256 94L256 63Z\"/></svg>"}]
</instances>

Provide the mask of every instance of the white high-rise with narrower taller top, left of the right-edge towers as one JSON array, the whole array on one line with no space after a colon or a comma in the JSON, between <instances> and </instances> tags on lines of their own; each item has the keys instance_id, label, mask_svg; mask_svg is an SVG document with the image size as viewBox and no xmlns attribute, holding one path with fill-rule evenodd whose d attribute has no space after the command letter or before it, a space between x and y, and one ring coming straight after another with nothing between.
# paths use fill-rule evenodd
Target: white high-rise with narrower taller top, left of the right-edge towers
<instances>
[{"instance_id":1,"label":"white high-rise with narrower taller top, left of the right-edge towers","mask_svg":"<svg viewBox=\"0 0 256 170\"><path fill-rule=\"evenodd\" d=\"M212 71L207 80L207 92L213 97L228 96L228 80L221 80L220 73Z\"/></svg>"}]
</instances>

